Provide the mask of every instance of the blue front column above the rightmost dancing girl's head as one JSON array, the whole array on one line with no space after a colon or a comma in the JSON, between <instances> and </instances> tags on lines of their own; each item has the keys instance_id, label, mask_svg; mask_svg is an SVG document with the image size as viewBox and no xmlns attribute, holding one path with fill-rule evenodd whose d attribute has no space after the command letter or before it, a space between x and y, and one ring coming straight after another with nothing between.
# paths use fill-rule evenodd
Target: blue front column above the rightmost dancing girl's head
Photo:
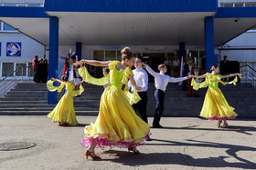
<instances>
[{"instance_id":1,"label":"blue front column above the rightmost dancing girl's head","mask_svg":"<svg viewBox=\"0 0 256 170\"><path fill-rule=\"evenodd\" d=\"M215 65L214 59L214 18L205 17L205 54L206 54L206 71L210 72L212 65Z\"/></svg>"}]
</instances>

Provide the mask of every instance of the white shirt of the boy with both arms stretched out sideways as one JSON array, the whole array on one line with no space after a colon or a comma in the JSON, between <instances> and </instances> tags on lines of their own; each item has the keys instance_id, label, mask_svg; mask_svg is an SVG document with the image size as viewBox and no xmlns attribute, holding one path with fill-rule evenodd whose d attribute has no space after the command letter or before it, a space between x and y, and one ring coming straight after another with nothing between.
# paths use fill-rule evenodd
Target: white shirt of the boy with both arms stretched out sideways
<instances>
[{"instance_id":1,"label":"white shirt of the boy with both arms stretched out sideways","mask_svg":"<svg viewBox=\"0 0 256 170\"><path fill-rule=\"evenodd\" d=\"M164 92L169 82L176 83L187 80L187 77L174 78L169 75L165 75L164 73L155 73L155 71L152 70L152 68L150 68L148 65L146 65L145 68L148 73L150 73L150 75L153 75L155 77L155 88L163 90Z\"/></svg>"}]
</instances>

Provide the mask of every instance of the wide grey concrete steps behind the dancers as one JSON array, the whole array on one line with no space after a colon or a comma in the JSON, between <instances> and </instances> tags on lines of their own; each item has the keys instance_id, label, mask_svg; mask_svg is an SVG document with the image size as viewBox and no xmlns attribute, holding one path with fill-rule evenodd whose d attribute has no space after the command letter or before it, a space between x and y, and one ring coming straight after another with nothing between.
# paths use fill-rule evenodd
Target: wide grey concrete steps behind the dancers
<instances>
[{"instance_id":1,"label":"wide grey concrete steps behind the dancers","mask_svg":"<svg viewBox=\"0 0 256 170\"><path fill-rule=\"evenodd\" d=\"M76 115L98 115L102 86L84 85L85 92L74 97ZM256 88L249 84L219 85L229 105L235 108L240 117L256 117ZM165 112L163 116L198 116L207 89L199 89L199 97L187 97L177 84L169 84L165 91ZM148 90L147 115L155 113L155 85ZM58 100L64 93L58 94ZM47 104L46 84L17 84L4 98L0 99L0 115L48 115L55 105Z\"/></svg>"}]
</instances>

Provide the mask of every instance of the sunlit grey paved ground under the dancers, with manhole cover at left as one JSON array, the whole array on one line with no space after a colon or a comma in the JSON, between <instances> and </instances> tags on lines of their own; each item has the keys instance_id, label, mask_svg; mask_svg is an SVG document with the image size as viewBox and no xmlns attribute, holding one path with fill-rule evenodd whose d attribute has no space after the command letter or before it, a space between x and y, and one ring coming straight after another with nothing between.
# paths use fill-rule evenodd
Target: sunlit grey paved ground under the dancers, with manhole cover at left
<instances>
[{"instance_id":1,"label":"sunlit grey paved ground under the dancers, with manhole cover at left","mask_svg":"<svg viewBox=\"0 0 256 170\"><path fill-rule=\"evenodd\" d=\"M61 127L46 116L0 116L0 169L256 169L256 120L216 121L164 117L165 129L152 129L141 155L127 150L97 149L100 161L86 160L80 145L84 125L94 116L78 116L80 125ZM150 123L152 118L149 118ZM3 144L36 144L3 151Z\"/></svg>"}]
</instances>

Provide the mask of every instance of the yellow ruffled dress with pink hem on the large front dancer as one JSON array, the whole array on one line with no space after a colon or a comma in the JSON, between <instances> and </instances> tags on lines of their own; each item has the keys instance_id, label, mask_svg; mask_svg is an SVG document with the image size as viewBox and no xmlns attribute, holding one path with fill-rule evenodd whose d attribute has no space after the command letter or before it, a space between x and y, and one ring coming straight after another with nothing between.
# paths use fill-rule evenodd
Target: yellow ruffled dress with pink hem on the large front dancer
<instances>
[{"instance_id":1,"label":"yellow ruffled dress with pink hem on the large front dancer","mask_svg":"<svg viewBox=\"0 0 256 170\"><path fill-rule=\"evenodd\" d=\"M94 124L87 125L84 129L84 138L81 145L88 147L94 141L97 147L105 146L129 147L143 145L144 138L150 133L150 126L135 114L126 94L129 75L133 75L130 67L118 71L115 65L118 61L109 63L110 74L96 79L88 74L85 67L80 68L80 76L89 83L97 85L109 84L101 95L99 115ZM123 92L124 90L124 92ZM135 100L136 101L136 100Z\"/></svg>"}]
</instances>

